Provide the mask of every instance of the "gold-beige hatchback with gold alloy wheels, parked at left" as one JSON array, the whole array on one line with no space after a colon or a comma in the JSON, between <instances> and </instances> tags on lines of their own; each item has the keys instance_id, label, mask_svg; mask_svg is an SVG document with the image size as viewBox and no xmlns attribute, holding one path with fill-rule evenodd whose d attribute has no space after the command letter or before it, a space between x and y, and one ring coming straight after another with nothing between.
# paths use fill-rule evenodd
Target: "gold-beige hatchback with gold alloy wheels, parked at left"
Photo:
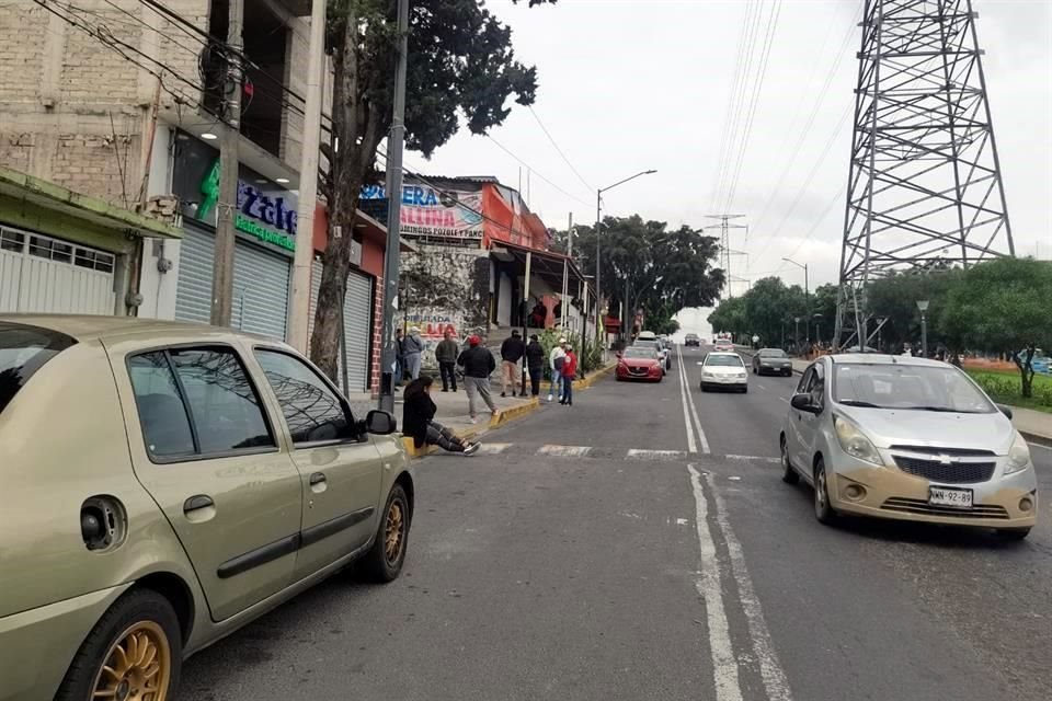
<instances>
[{"instance_id":1,"label":"gold-beige hatchback with gold alloy wheels, parked at left","mask_svg":"<svg viewBox=\"0 0 1052 701\"><path fill-rule=\"evenodd\" d=\"M171 698L185 656L351 563L398 577L395 429L262 336L0 315L0 696Z\"/></svg>"}]
</instances>

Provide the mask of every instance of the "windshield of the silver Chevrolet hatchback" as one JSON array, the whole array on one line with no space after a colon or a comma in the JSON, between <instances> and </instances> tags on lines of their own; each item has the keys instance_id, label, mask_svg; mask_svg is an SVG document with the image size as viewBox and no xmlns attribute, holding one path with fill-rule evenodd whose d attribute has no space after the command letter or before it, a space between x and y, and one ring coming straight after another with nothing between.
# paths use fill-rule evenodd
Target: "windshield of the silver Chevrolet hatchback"
<instances>
[{"instance_id":1,"label":"windshield of the silver Chevrolet hatchback","mask_svg":"<svg viewBox=\"0 0 1052 701\"><path fill-rule=\"evenodd\" d=\"M836 364L833 399L841 404L962 414L997 409L952 366Z\"/></svg>"}]
</instances>

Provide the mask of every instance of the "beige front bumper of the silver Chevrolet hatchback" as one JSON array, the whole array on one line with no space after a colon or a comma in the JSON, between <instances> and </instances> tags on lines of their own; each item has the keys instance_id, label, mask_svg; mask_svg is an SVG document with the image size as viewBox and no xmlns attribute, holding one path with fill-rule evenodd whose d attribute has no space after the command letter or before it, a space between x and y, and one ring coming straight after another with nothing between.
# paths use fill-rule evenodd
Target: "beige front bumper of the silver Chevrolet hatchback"
<instances>
[{"instance_id":1,"label":"beige front bumper of the silver Chevrolet hatchback","mask_svg":"<svg viewBox=\"0 0 1052 701\"><path fill-rule=\"evenodd\" d=\"M1037 522L1037 484L1029 471L979 484L945 485L972 490L971 509L929 505L928 487L933 485L944 486L895 468L861 468L828 475L830 503L846 514L983 528L1030 528ZM1025 499L1031 504L1029 509L1021 506Z\"/></svg>"}]
</instances>

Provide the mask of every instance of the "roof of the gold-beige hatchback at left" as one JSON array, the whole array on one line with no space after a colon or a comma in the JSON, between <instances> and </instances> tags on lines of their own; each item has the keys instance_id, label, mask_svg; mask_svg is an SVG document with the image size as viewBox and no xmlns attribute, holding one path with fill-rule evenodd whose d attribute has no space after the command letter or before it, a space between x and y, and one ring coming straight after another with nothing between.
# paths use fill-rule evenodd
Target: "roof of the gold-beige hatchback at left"
<instances>
[{"instance_id":1,"label":"roof of the gold-beige hatchback at left","mask_svg":"<svg viewBox=\"0 0 1052 701\"><path fill-rule=\"evenodd\" d=\"M127 336L165 334L229 334L256 341L275 342L270 336L245 333L236 329L209 326L184 321L140 319L138 317L91 317L84 314L0 314L0 323L25 324L49 329L77 341L115 340ZM277 341L281 343L281 341Z\"/></svg>"}]
</instances>

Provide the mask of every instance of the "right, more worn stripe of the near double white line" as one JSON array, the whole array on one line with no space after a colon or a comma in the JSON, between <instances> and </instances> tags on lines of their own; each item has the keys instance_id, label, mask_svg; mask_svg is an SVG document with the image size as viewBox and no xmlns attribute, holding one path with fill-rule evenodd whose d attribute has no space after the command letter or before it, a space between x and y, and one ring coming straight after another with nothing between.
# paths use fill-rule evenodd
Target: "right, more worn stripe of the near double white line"
<instances>
[{"instance_id":1,"label":"right, more worn stripe of the near double white line","mask_svg":"<svg viewBox=\"0 0 1052 701\"><path fill-rule=\"evenodd\" d=\"M690 470L691 480L697 475L697 471ZM790 701L792 693L789 691L789 680L786 673L778 663L778 655L775 653L774 644L770 641L770 633L767 631L767 623L764 621L764 611L759 606L759 599L756 598L756 591L753 589L753 581L748 576L748 570L745 566L745 555L742 553L742 543L734 536L734 529L727 517L727 509L723 507L723 499L718 490L712 487L711 476L705 475L706 486L712 492L712 498L716 502L716 522L727 541L727 551L731 556L731 574L734 575L734 582L737 584L737 596L742 601L742 610L745 612L745 620L748 623L748 636L753 642L753 653L759 662L759 676L764 680L764 688L767 690L769 701ZM695 485L695 497L705 499L705 494L698 494L700 482ZM700 526L699 526L700 529Z\"/></svg>"}]
</instances>

